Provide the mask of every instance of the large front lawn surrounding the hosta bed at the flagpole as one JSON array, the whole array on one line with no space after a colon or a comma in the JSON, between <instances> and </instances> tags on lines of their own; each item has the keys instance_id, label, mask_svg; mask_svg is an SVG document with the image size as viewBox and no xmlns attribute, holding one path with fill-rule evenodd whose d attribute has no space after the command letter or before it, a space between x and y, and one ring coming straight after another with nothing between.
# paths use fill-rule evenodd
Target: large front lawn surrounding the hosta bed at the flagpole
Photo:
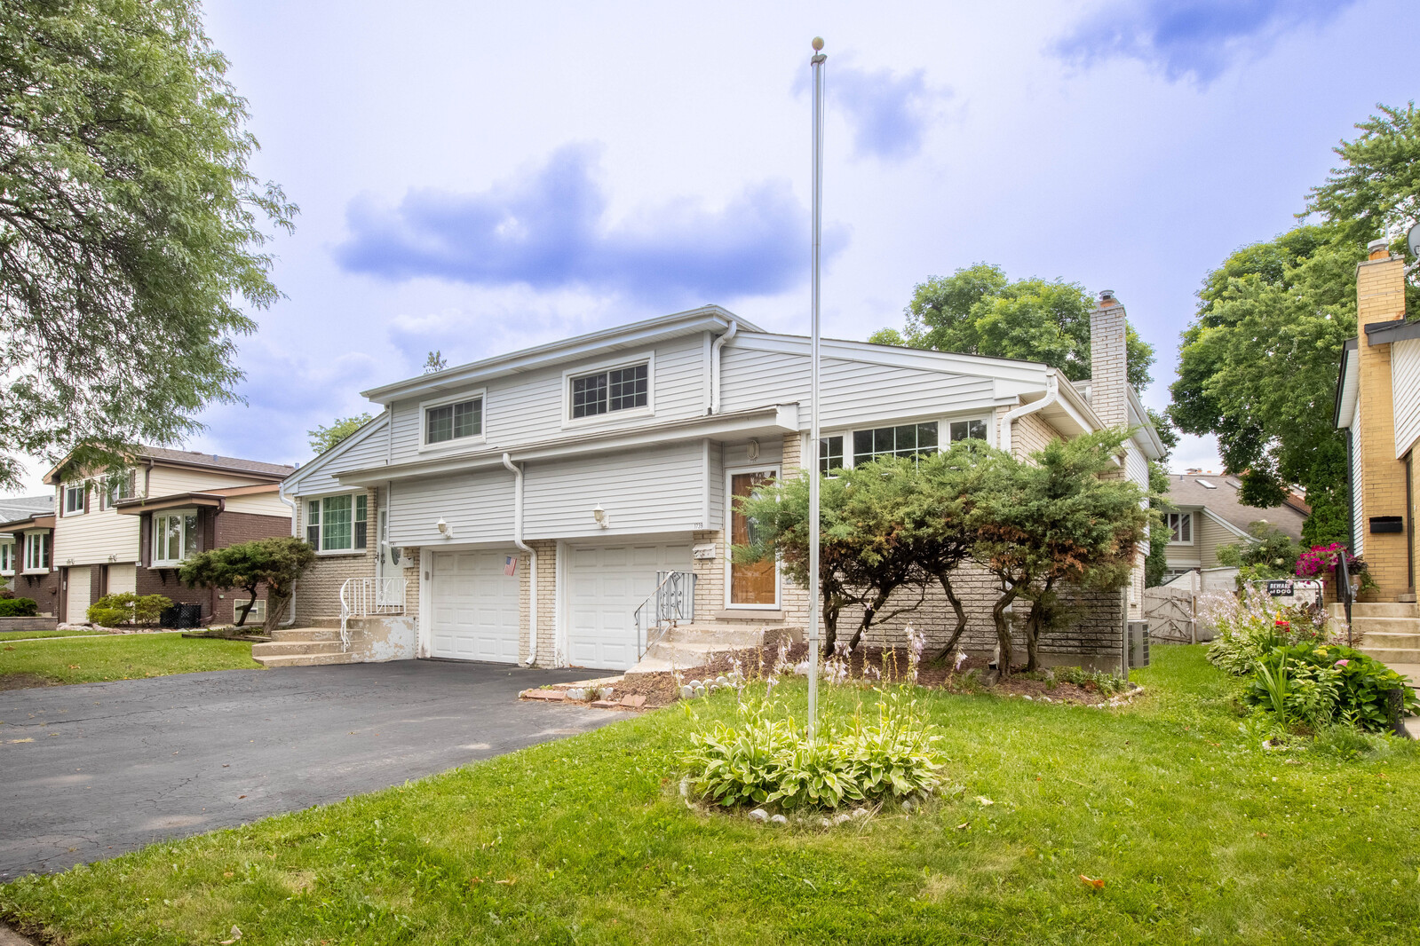
<instances>
[{"instance_id":1,"label":"large front lawn surrounding the hosta bed at the flagpole","mask_svg":"<svg viewBox=\"0 0 1420 946\"><path fill-rule=\"evenodd\" d=\"M1420 752L1264 750L1201 650L1156 648L1123 711L923 694L963 791L910 818L687 810L673 753L703 722L672 708L24 878L0 913L87 945L1416 942Z\"/></svg>"}]
</instances>

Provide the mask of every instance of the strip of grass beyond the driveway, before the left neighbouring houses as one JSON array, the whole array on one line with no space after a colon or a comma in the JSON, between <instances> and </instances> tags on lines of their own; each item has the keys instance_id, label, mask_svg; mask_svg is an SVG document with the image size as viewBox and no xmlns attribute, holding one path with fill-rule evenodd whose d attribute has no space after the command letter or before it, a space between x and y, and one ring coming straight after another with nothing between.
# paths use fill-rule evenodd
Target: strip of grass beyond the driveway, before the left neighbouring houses
<instances>
[{"instance_id":1,"label":"strip of grass beyond the driveway, before the left neighbouring houses","mask_svg":"<svg viewBox=\"0 0 1420 946\"><path fill-rule=\"evenodd\" d=\"M0 686L26 674L54 684L94 684L203 669L257 669L251 644L182 634L114 634L10 644L0 641Z\"/></svg>"}]
</instances>

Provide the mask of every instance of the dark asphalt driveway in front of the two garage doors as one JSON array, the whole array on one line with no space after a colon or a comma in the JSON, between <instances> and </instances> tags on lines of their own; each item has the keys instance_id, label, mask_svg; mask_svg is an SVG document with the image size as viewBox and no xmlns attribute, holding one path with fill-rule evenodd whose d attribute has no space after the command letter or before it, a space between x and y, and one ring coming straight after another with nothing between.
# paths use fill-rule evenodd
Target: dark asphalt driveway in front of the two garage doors
<instances>
[{"instance_id":1,"label":"dark asphalt driveway in front of the two garage doors","mask_svg":"<svg viewBox=\"0 0 1420 946\"><path fill-rule=\"evenodd\" d=\"M0 692L0 882L622 719L517 701L594 674L395 661Z\"/></svg>"}]
</instances>

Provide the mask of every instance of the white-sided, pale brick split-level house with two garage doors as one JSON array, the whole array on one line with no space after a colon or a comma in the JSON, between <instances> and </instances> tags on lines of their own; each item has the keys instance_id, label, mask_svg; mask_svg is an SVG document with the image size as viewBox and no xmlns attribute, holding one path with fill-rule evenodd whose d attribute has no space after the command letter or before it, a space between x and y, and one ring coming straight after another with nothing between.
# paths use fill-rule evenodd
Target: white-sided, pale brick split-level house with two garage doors
<instances>
[{"instance_id":1,"label":"white-sided, pale brick split-level house with two garage doors","mask_svg":"<svg viewBox=\"0 0 1420 946\"><path fill-rule=\"evenodd\" d=\"M824 467L968 437L1024 457L1129 425L1120 475L1146 484L1162 445L1125 380L1123 306L1106 295L1092 329L1095 379L1079 384L1030 362L825 340ZM733 496L799 471L808 352L704 306L365 391L382 413L281 486L318 559L297 587L304 627L253 654L626 669L798 634L804 589L727 553L750 529ZM991 581L958 584L967 648L990 654ZM1042 654L1118 668L1142 593L1143 552L1127 594L1079 593ZM929 599L910 620L944 641L947 613ZM902 642L903 624L879 640Z\"/></svg>"}]
</instances>

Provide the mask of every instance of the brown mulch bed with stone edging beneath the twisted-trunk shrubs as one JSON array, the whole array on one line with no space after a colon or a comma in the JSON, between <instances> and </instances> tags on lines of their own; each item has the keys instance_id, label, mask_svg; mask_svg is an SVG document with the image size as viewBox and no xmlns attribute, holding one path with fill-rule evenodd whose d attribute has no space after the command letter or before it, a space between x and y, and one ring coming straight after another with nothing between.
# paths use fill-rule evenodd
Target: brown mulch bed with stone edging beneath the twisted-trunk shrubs
<instances>
[{"instance_id":1,"label":"brown mulch bed with stone edging beneath the twisted-trunk shrubs","mask_svg":"<svg viewBox=\"0 0 1420 946\"><path fill-rule=\"evenodd\" d=\"M792 667L808 657L808 644L794 644L785 652L784 660ZM656 709L669 706L680 699L680 685L690 681L709 681L728 674L738 668L748 679L764 679L770 675L774 664L780 661L780 650L768 647L751 647L740 651L720 654L714 660L700 667L677 669L676 674L636 674L612 682L613 701L625 696L645 696L640 709ZM845 658L848 679L868 684L878 684L886 679L890 684L906 682L912 674L912 662L903 648L859 648ZM974 672L973 672L974 671ZM792 669L784 671L792 674ZM679 681L677 681L679 677ZM995 672L980 657L968 657L960 668L953 668L947 662L923 664L917 668L917 685L929 689L944 689L954 694L985 692L997 696L1030 696L1041 702L1096 705L1127 698L1130 689L1123 694L1100 692L1093 686L1079 686L1064 681L1049 682L1044 679L1030 679L1012 674L1004 681L995 678ZM577 684L571 684L575 686ZM559 686L558 689L562 689Z\"/></svg>"}]
</instances>

